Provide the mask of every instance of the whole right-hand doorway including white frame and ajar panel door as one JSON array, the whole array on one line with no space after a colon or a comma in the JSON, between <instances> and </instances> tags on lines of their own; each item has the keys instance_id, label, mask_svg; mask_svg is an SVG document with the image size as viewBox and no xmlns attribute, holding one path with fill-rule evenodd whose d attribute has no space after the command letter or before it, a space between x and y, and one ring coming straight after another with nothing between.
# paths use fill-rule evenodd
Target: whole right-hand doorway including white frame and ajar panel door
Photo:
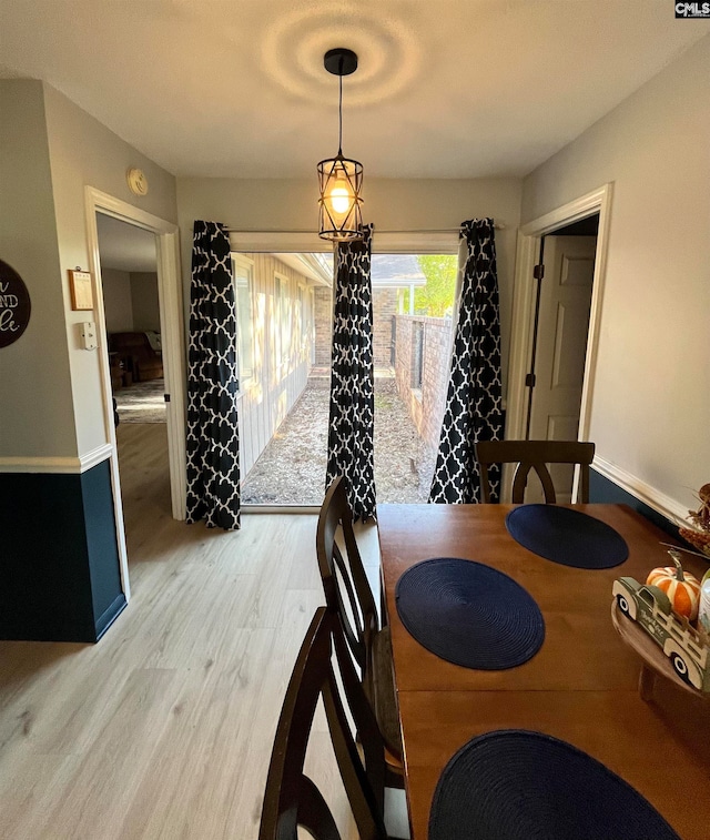
<instances>
[{"instance_id":1,"label":"whole right-hand doorway including white frame and ajar panel door","mask_svg":"<svg viewBox=\"0 0 710 840\"><path fill-rule=\"evenodd\" d=\"M610 202L607 184L520 230L508 438L589 439ZM555 472L558 497L574 502L578 470ZM504 467L503 500L510 498L511 473ZM526 500L538 496L532 486Z\"/></svg>"}]
</instances>

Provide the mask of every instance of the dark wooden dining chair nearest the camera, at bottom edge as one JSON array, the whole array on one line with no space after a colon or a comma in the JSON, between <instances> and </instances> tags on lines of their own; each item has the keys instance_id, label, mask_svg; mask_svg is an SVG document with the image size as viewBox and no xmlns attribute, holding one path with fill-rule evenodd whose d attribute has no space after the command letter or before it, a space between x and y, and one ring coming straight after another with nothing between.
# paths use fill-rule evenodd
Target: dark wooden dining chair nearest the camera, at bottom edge
<instances>
[{"instance_id":1,"label":"dark wooden dining chair nearest the camera, at bottom edge","mask_svg":"<svg viewBox=\"0 0 710 840\"><path fill-rule=\"evenodd\" d=\"M386 840L383 819L384 788L376 792L373 778L384 777L383 743L369 704L351 664L341 678L364 760L353 739L332 665L332 640L342 632L337 617L320 607L311 621L294 666L266 778L258 840L296 840L305 828L315 840L341 840L333 813L316 785L304 773L306 748L318 702L323 699L341 778L363 840Z\"/></svg>"}]
</instances>

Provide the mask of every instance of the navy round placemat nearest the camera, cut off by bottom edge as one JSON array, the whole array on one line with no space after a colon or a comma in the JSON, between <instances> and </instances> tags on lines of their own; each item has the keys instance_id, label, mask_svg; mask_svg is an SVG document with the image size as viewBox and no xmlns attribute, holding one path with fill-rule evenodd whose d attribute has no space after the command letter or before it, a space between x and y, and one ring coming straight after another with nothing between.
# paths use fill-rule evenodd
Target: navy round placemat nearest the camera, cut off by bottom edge
<instances>
[{"instance_id":1,"label":"navy round placemat nearest the camera, cut off by bottom edge","mask_svg":"<svg viewBox=\"0 0 710 840\"><path fill-rule=\"evenodd\" d=\"M429 840L680 840L623 779L549 735L474 738L436 786Z\"/></svg>"}]
</instances>

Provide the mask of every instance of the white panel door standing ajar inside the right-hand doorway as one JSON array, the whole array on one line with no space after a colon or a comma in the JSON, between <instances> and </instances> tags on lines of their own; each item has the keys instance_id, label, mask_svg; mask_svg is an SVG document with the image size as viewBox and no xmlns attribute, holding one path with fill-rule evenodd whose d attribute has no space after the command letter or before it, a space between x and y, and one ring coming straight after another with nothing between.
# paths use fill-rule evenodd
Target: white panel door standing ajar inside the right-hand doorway
<instances>
[{"instance_id":1,"label":"white panel door standing ajar inside the right-hand doorway","mask_svg":"<svg viewBox=\"0 0 710 840\"><path fill-rule=\"evenodd\" d=\"M546 236L530 438L576 441L589 332L596 236ZM571 500L574 467L550 468L557 500ZM542 500L530 486L526 500Z\"/></svg>"}]
</instances>

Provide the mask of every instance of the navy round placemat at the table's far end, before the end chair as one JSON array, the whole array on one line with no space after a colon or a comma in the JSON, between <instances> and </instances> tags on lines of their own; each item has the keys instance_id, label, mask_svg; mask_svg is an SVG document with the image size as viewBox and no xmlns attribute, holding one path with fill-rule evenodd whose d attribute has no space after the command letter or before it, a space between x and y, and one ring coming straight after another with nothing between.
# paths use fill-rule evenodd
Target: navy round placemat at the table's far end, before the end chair
<instances>
[{"instance_id":1,"label":"navy round placemat at the table's far end, before the end chair","mask_svg":"<svg viewBox=\"0 0 710 840\"><path fill-rule=\"evenodd\" d=\"M562 566L608 569L629 556L611 526L569 507L521 505L508 513L506 528L521 546Z\"/></svg>"}]
</instances>

